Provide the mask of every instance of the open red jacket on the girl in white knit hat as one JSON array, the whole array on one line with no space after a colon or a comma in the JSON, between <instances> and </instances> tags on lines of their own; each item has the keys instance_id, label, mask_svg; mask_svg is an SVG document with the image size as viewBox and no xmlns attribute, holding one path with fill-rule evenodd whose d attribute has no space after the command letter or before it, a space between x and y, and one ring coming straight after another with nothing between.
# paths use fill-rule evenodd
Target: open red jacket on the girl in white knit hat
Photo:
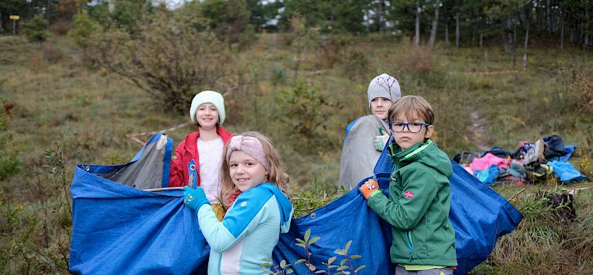
<instances>
[{"instance_id":1,"label":"open red jacket on the girl in white knit hat","mask_svg":"<svg viewBox=\"0 0 593 275\"><path fill-rule=\"evenodd\" d=\"M221 127L217 127L217 134L223 139L224 145L232 137L232 134ZM171 160L169 187L179 187L189 185L190 174L188 172L188 163L194 160L196 163L196 170L198 172L198 186L200 185L200 158L198 152L198 138L200 132L192 132L185 136L185 139L177 145L175 149L176 159ZM222 154L222 153L221 153Z\"/></svg>"}]
</instances>

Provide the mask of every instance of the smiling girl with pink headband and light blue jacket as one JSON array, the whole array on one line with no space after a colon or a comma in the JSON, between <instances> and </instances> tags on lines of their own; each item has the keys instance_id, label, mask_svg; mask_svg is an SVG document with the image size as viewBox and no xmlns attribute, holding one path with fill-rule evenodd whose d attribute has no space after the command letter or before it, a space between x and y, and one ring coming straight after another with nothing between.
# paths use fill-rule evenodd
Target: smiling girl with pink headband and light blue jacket
<instances>
[{"instance_id":1,"label":"smiling girl with pink headband and light blue jacket","mask_svg":"<svg viewBox=\"0 0 593 275\"><path fill-rule=\"evenodd\" d=\"M223 158L221 198L230 207L222 221L212 212L201 187L186 186L183 192L185 205L197 212L210 245L208 274L266 274L259 265L272 258L294 212L285 195L288 175L270 140L258 132L233 136ZM232 194L239 196L232 201Z\"/></svg>"}]
</instances>

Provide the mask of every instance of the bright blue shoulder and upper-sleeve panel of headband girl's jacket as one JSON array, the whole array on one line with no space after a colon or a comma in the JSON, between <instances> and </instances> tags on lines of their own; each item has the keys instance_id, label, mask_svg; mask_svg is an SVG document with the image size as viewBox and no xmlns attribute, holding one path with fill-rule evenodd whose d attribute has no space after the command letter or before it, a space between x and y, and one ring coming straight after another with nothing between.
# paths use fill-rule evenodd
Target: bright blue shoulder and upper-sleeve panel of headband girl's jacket
<instances>
[{"instance_id":1,"label":"bright blue shoulder and upper-sleeve panel of headband girl's jacket","mask_svg":"<svg viewBox=\"0 0 593 275\"><path fill-rule=\"evenodd\" d=\"M224 227L232 236L239 238L272 195L272 192L262 185L241 193L231 210L223 218Z\"/></svg>"}]
</instances>

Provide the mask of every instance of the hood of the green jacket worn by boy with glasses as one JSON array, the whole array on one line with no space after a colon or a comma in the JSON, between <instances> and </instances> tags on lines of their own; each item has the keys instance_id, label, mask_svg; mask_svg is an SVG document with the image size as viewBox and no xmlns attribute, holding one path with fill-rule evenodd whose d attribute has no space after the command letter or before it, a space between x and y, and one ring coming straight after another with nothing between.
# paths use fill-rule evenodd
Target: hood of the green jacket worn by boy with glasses
<instances>
[{"instance_id":1,"label":"hood of the green jacket worn by boy with glasses","mask_svg":"<svg viewBox=\"0 0 593 275\"><path fill-rule=\"evenodd\" d=\"M434 168L434 170L448 178L453 175L453 167L449 156L430 139L425 143L417 143L406 150L401 150L401 147L392 140L390 156L395 163L398 163L398 166L417 161Z\"/></svg>"}]
</instances>

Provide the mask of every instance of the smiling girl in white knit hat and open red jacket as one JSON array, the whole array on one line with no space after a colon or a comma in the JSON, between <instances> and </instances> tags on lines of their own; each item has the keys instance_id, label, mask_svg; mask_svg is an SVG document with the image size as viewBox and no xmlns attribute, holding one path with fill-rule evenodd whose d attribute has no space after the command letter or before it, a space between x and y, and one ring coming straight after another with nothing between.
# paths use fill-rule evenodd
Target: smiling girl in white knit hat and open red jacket
<instances>
[{"instance_id":1,"label":"smiling girl in white knit hat and open red jacket","mask_svg":"<svg viewBox=\"0 0 593 275\"><path fill-rule=\"evenodd\" d=\"M220 126L225 119L223 96L213 91L196 94L190 107L190 119L198 130L185 136L175 149L169 186L201 186L217 217L221 219L224 216L219 203L222 154L224 146L232 137L230 132Z\"/></svg>"}]
</instances>

